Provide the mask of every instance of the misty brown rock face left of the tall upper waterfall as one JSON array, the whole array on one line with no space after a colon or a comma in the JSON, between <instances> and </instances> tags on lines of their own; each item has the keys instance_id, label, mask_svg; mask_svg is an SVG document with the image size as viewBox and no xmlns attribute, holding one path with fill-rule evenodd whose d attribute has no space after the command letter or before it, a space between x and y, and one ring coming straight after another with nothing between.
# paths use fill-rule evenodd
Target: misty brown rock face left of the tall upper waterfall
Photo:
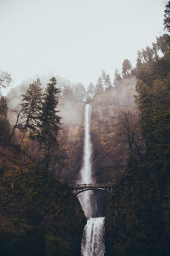
<instances>
[{"instance_id":1,"label":"misty brown rock face left of the tall upper waterfall","mask_svg":"<svg viewBox=\"0 0 170 256\"><path fill-rule=\"evenodd\" d=\"M59 135L58 163L53 174L61 182L77 182L84 150L84 103L60 102L62 130Z\"/></svg>"}]
</instances>

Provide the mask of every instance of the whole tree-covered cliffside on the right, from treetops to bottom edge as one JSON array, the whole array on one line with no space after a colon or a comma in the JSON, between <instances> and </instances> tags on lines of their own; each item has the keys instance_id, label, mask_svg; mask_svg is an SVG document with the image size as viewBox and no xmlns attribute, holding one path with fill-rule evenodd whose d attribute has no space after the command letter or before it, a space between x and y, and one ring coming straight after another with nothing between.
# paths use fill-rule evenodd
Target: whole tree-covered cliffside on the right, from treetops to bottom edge
<instances>
[{"instance_id":1,"label":"whole tree-covered cliffside on the right, from treetops to bottom edge","mask_svg":"<svg viewBox=\"0 0 170 256\"><path fill-rule=\"evenodd\" d=\"M168 6L168 4L167 4ZM129 155L126 175L114 189L106 214L106 255L169 255L169 35L138 54L139 126L146 158ZM158 51L163 53L158 56ZM139 65L140 63L140 65ZM127 130L127 132L129 132Z\"/></svg>"}]
</instances>

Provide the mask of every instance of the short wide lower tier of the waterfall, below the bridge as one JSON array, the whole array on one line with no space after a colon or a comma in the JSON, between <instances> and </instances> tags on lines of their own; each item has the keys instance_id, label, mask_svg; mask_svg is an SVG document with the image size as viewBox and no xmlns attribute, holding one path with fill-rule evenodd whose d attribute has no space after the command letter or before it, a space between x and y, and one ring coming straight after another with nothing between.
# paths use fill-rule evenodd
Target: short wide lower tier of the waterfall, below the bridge
<instances>
[{"instance_id":1,"label":"short wide lower tier of the waterfall, below the bridge","mask_svg":"<svg viewBox=\"0 0 170 256\"><path fill-rule=\"evenodd\" d=\"M82 238L82 256L103 256L105 253L105 218L88 218Z\"/></svg>"}]
</instances>

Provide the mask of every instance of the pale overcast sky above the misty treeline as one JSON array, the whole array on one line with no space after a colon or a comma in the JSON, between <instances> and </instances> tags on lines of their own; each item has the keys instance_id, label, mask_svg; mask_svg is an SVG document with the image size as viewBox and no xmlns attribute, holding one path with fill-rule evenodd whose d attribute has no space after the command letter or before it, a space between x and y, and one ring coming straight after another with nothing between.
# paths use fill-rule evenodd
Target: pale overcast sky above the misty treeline
<instances>
[{"instance_id":1,"label":"pale overcast sky above the misty treeline","mask_svg":"<svg viewBox=\"0 0 170 256\"><path fill-rule=\"evenodd\" d=\"M58 74L113 81L122 62L163 35L163 0L0 0L0 70L23 80Z\"/></svg>"}]
</instances>

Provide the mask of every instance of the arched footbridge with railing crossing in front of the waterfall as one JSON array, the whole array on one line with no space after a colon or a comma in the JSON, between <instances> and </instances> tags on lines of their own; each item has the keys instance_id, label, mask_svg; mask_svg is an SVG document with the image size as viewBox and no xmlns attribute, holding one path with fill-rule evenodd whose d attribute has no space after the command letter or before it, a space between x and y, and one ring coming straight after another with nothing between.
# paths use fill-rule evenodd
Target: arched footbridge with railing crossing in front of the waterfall
<instances>
[{"instance_id":1,"label":"arched footbridge with railing crossing in front of the waterfall","mask_svg":"<svg viewBox=\"0 0 170 256\"><path fill-rule=\"evenodd\" d=\"M74 195L78 195L87 190L101 190L103 192L112 194L114 184L112 183L99 183L99 184L68 184Z\"/></svg>"}]
</instances>

